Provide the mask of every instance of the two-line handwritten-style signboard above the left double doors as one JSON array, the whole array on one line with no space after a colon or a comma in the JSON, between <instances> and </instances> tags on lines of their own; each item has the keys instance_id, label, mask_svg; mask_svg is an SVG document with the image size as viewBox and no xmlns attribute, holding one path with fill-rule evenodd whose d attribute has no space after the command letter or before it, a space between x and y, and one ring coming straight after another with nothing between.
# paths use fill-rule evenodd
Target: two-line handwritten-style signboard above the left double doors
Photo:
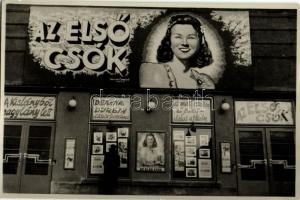
<instances>
[{"instance_id":1,"label":"two-line handwritten-style signboard above the left double doors","mask_svg":"<svg viewBox=\"0 0 300 200\"><path fill-rule=\"evenodd\" d=\"M54 120L56 97L6 95L5 119Z\"/></svg>"}]
</instances>

